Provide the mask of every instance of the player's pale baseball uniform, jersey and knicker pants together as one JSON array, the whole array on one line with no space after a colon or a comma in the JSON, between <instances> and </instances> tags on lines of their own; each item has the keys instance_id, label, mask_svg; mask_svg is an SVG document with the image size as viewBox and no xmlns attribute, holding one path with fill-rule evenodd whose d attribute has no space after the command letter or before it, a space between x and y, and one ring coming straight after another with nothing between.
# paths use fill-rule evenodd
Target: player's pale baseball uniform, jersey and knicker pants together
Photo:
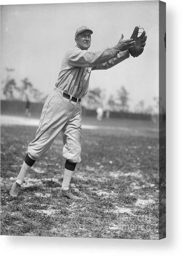
<instances>
[{"instance_id":1,"label":"player's pale baseball uniform, jersey and knicker pants together","mask_svg":"<svg viewBox=\"0 0 182 256\"><path fill-rule=\"evenodd\" d=\"M29 156L36 160L52 145L59 132L63 138L63 156L70 162L81 161L81 99L88 91L90 72L108 69L129 57L129 51L116 53L115 47L103 51L86 51L77 46L62 60L56 88L44 104L36 138L28 145ZM64 97L64 92L70 99Z\"/></svg>"}]
</instances>

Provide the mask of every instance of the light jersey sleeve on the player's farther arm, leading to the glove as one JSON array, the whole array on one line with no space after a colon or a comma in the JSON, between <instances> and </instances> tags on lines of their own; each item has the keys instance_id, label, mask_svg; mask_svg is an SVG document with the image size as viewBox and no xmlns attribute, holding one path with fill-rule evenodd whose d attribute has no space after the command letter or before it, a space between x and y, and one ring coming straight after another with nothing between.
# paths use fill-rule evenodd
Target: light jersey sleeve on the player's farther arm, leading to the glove
<instances>
[{"instance_id":1,"label":"light jersey sleeve on the player's farther arm, leading to the glove","mask_svg":"<svg viewBox=\"0 0 182 256\"><path fill-rule=\"evenodd\" d=\"M98 69L108 69L108 68L111 68L113 66L115 66L116 64L126 60L129 58L129 51L126 50L126 51L123 51L123 52L119 52L117 54L117 57L107 61L107 62L104 62L100 65L97 65L95 67L92 67L92 70L98 70Z\"/></svg>"}]
</instances>

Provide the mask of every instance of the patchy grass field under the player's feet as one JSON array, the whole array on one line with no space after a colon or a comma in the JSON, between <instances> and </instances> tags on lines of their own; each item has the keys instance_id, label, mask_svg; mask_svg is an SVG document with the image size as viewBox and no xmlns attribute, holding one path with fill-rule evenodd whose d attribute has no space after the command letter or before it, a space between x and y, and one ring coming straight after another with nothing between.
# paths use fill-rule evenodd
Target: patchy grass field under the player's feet
<instances>
[{"instance_id":1,"label":"patchy grass field under the player's feet","mask_svg":"<svg viewBox=\"0 0 182 256\"><path fill-rule=\"evenodd\" d=\"M97 125L92 118L83 123ZM114 119L99 125L103 129L83 129L82 162L71 180L79 202L59 194L61 135L33 165L18 198L10 197L37 127L1 127L1 235L158 239L156 125Z\"/></svg>"}]
</instances>

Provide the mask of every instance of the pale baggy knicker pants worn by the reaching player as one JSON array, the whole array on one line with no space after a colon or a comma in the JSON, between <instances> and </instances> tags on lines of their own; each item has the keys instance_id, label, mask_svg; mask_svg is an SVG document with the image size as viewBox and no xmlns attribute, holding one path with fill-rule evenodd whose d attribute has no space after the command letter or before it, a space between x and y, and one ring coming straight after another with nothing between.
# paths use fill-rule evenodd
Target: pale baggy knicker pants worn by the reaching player
<instances>
[{"instance_id":1,"label":"pale baggy knicker pants worn by the reaching player","mask_svg":"<svg viewBox=\"0 0 182 256\"><path fill-rule=\"evenodd\" d=\"M36 138L28 145L28 154L33 159L40 158L52 145L61 131L63 156L70 162L81 161L81 114L80 102L69 101L63 91L55 88L43 106Z\"/></svg>"}]
</instances>

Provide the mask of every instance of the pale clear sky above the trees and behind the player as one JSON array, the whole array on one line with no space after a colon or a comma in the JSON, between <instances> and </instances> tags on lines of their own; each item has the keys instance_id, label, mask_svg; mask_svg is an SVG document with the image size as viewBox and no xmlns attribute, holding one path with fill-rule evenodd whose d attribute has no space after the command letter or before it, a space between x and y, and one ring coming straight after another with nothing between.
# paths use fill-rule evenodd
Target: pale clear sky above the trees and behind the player
<instances>
[{"instance_id":1,"label":"pale clear sky above the trees and behind the player","mask_svg":"<svg viewBox=\"0 0 182 256\"><path fill-rule=\"evenodd\" d=\"M139 101L154 106L159 91L158 1L85 2L21 4L1 6L1 98L6 67L17 85L28 77L44 94L54 90L65 52L75 46L78 27L93 30L90 51L114 46L124 34L130 38L135 26L148 36L144 52L101 71L93 71L89 89L100 87L106 99L124 86L129 93L130 110ZM142 31L142 30L141 30ZM165 48L162 49L165 51Z\"/></svg>"}]
</instances>

